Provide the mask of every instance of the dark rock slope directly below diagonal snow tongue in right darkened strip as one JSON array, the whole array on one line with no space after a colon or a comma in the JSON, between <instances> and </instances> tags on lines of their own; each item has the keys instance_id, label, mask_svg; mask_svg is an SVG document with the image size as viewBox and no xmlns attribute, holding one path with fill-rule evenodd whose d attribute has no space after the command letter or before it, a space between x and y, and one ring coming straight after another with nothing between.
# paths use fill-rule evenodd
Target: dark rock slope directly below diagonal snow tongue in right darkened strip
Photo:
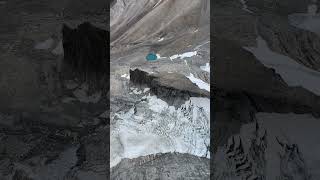
<instances>
[{"instance_id":1,"label":"dark rock slope directly below diagonal snow tongue in right darkened strip","mask_svg":"<svg viewBox=\"0 0 320 180\"><path fill-rule=\"evenodd\" d=\"M258 111L320 113L317 95L302 87L289 87L273 69L265 67L237 43L214 40L214 86L217 90L247 94Z\"/></svg>"}]
</instances>

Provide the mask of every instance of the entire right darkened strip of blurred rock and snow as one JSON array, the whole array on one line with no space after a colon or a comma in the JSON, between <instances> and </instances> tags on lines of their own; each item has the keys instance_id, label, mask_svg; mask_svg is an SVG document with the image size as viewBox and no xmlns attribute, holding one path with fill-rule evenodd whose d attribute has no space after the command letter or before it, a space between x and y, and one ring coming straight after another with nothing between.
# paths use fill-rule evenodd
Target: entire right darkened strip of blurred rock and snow
<instances>
[{"instance_id":1,"label":"entire right darkened strip of blurred rock and snow","mask_svg":"<svg viewBox=\"0 0 320 180\"><path fill-rule=\"evenodd\" d=\"M319 178L317 5L230 0L211 9L215 179Z\"/></svg>"}]
</instances>

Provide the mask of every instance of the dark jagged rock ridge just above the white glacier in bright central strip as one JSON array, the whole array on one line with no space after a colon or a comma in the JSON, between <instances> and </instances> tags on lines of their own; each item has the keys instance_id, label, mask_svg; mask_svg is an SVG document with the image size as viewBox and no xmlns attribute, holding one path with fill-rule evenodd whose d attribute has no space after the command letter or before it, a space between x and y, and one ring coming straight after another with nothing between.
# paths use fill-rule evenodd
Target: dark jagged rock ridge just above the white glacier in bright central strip
<instances>
[{"instance_id":1,"label":"dark jagged rock ridge just above the white glacier in bright central strip","mask_svg":"<svg viewBox=\"0 0 320 180\"><path fill-rule=\"evenodd\" d=\"M180 106L190 97L210 97L210 92L200 89L182 74L148 73L134 69L130 70L130 81L147 85L152 93L170 105Z\"/></svg>"}]
</instances>

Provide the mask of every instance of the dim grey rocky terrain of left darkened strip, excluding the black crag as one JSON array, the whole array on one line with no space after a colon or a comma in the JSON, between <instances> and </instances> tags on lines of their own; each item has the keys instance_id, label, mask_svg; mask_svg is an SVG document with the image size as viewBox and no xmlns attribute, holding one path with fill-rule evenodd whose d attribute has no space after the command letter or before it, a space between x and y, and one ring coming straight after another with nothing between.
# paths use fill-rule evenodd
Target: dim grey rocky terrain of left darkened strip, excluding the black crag
<instances>
[{"instance_id":1,"label":"dim grey rocky terrain of left darkened strip, excluding the black crag","mask_svg":"<svg viewBox=\"0 0 320 180\"><path fill-rule=\"evenodd\" d=\"M107 99L62 66L63 24L106 30L106 10L100 0L1 1L0 179L108 176Z\"/></svg>"}]
</instances>

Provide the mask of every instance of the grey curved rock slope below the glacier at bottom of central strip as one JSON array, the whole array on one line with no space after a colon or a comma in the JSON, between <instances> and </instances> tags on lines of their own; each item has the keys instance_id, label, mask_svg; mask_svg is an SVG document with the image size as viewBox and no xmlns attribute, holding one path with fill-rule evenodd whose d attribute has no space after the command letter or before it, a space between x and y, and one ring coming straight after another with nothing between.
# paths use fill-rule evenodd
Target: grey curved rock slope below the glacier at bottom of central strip
<instances>
[{"instance_id":1,"label":"grey curved rock slope below the glacier at bottom of central strip","mask_svg":"<svg viewBox=\"0 0 320 180\"><path fill-rule=\"evenodd\" d=\"M209 159L189 154L166 153L124 159L111 169L111 179L196 179L210 178Z\"/></svg>"}]
</instances>

